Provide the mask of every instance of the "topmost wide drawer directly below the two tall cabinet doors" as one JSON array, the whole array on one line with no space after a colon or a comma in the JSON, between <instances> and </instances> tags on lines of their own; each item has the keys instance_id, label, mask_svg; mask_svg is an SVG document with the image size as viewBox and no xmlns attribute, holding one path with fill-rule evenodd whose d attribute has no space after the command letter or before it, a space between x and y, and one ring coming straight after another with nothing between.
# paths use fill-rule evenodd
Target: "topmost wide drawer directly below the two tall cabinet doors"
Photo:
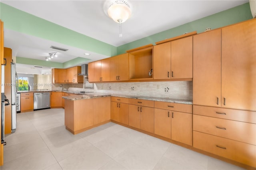
<instances>
[{"instance_id":1,"label":"topmost wide drawer directly below the two tall cabinet doors","mask_svg":"<svg viewBox=\"0 0 256 170\"><path fill-rule=\"evenodd\" d=\"M256 123L256 112L193 105L193 114Z\"/></svg>"}]
</instances>

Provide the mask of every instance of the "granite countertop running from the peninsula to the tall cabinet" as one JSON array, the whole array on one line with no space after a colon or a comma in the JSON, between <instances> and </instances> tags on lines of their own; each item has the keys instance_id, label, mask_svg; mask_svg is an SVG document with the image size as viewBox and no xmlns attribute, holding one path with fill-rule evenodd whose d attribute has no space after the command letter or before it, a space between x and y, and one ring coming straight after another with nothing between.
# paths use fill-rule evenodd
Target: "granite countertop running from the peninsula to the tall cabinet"
<instances>
[{"instance_id":1,"label":"granite countertop running from the peninsula to the tall cabinet","mask_svg":"<svg viewBox=\"0 0 256 170\"><path fill-rule=\"evenodd\" d=\"M118 95L118 94L108 94L108 93L85 93L84 95L75 95L75 96L64 96L62 98L68 100L80 100L80 99L91 99L96 97L125 97L125 98L132 98L132 99L143 99L143 100L151 100L151 101L163 101L163 102L170 102L170 103L181 103L181 104L188 104L192 105L192 100L184 100L184 99L170 99L170 98L161 98L161 97L146 97L146 96L130 96L130 95Z\"/></svg>"}]
</instances>

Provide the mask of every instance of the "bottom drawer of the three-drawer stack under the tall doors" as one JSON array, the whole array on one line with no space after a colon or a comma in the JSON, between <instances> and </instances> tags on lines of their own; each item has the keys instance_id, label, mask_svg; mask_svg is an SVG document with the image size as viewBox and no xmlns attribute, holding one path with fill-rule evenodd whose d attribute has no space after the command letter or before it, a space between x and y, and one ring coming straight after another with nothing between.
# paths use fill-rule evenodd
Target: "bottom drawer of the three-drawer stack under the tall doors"
<instances>
[{"instance_id":1,"label":"bottom drawer of the three-drawer stack under the tall doors","mask_svg":"<svg viewBox=\"0 0 256 170\"><path fill-rule=\"evenodd\" d=\"M193 146L242 164L256 167L256 146L193 131Z\"/></svg>"}]
</instances>

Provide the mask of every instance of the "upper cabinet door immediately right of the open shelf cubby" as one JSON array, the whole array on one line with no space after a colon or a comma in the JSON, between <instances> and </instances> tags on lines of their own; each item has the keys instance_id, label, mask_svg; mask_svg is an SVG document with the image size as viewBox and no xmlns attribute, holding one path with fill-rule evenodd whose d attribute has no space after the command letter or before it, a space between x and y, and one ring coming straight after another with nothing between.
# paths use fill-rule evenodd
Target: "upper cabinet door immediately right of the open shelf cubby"
<instances>
[{"instance_id":1,"label":"upper cabinet door immediately right of the open shelf cubby","mask_svg":"<svg viewBox=\"0 0 256 170\"><path fill-rule=\"evenodd\" d=\"M170 79L171 42L154 46L154 79Z\"/></svg>"}]
</instances>

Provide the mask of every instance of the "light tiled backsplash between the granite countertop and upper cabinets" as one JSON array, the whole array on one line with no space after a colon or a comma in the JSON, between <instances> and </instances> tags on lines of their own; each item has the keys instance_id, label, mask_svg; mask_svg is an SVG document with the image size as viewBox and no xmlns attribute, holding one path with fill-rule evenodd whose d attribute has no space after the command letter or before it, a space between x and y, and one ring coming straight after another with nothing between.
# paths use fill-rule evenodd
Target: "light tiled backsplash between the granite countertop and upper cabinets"
<instances>
[{"instance_id":1,"label":"light tiled backsplash between the granite countertop and upper cabinets","mask_svg":"<svg viewBox=\"0 0 256 170\"><path fill-rule=\"evenodd\" d=\"M94 89L88 88L88 81L78 84L63 84L69 91L94 91L122 95L164 97L172 99L193 99L192 81L154 81L129 83L93 83ZM60 84L53 84L52 90L61 90Z\"/></svg>"}]
</instances>

